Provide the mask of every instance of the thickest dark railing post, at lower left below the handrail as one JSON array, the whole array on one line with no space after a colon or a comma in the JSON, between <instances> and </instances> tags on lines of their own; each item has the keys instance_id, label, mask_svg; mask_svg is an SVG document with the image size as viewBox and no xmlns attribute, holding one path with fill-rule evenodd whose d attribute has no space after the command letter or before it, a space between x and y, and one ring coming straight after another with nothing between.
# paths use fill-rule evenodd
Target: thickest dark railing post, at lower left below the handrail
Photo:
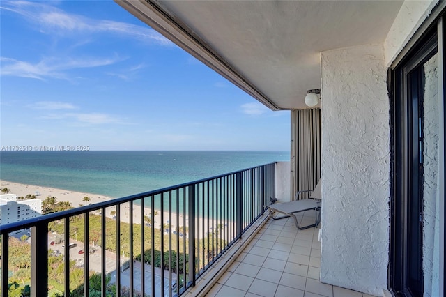
<instances>
[{"instance_id":1,"label":"thickest dark railing post, at lower left below the handrail","mask_svg":"<svg viewBox=\"0 0 446 297\"><path fill-rule=\"evenodd\" d=\"M2 241L3 243L3 241ZM8 240L6 240L6 244ZM8 252L8 248L6 248ZM7 254L8 256L8 254ZM8 257L6 257L8 259ZM8 265L1 273L8 278ZM3 275L2 275L3 277ZM68 283L68 289L70 288ZM2 289L8 292L8 284ZM6 294L7 295L7 294ZM48 295L48 222L38 222L31 227L31 296ZM68 295L67 295L68 296Z\"/></svg>"}]
</instances>

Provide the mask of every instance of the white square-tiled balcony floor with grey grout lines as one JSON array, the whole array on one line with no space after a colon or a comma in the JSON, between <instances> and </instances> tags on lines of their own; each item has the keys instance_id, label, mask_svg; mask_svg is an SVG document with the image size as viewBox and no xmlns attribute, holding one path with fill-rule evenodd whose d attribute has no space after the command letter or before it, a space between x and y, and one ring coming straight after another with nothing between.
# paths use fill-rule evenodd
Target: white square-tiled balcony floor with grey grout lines
<instances>
[{"instance_id":1,"label":"white square-tiled balcony floor with grey grout lines","mask_svg":"<svg viewBox=\"0 0 446 297\"><path fill-rule=\"evenodd\" d=\"M300 222L311 224L312 218L305 214ZM270 219L206 296L371 297L319 282L318 230L298 230L290 218Z\"/></svg>"}]
</instances>

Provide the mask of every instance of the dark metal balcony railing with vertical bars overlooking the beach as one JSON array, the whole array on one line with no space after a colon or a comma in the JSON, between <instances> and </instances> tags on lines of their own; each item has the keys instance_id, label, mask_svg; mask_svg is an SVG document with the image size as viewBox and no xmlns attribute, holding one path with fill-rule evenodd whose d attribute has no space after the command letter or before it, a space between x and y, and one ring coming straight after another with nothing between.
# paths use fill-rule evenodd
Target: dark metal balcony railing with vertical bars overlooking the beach
<instances>
[{"instance_id":1,"label":"dark metal balcony railing with vertical bars overlooking the beach","mask_svg":"<svg viewBox=\"0 0 446 297\"><path fill-rule=\"evenodd\" d=\"M270 197L275 163L0 226L0 296L26 284L31 296L179 296L263 215ZM13 234L28 228L25 269L14 275Z\"/></svg>"}]
</instances>

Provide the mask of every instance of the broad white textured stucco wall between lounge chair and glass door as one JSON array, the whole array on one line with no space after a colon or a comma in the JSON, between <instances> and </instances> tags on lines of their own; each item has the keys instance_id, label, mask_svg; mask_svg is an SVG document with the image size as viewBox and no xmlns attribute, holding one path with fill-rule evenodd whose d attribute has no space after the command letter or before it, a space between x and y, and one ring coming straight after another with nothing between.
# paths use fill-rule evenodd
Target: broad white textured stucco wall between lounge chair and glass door
<instances>
[{"instance_id":1,"label":"broad white textured stucco wall between lounge chair and glass door","mask_svg":"<svg viewBox=\"0 0 446 297\"><path fill-rule=\"evenodd\" d=\"M387 289L389 98L383 45L321 53L321 281Z\"/></svg>"}]
</instances>

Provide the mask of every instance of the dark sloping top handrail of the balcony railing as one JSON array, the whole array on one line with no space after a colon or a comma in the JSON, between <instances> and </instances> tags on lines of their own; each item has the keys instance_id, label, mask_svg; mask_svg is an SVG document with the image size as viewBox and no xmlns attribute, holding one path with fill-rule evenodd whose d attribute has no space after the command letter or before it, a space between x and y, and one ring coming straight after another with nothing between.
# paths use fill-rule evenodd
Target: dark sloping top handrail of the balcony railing
<instances>
[{"instance_id":1,"label":"dark sloping top handrail of the balcony railing","mask_svg":"<svg viewBox=\"0 0 446 297\"><path fill-rule=\"evenodd\" d=\"M254 166L254 167L249 167L246 169L241 169L241 170L237 170L235 172L229 172L226 174L220 174L217 176L212 176L212 177L208 177L208 178L202 178L199 179L197 181L190 181L187 183L181 183L178 185L171 185L169 187L166 188L160 188L157 190L151 190L148 192L142 192L139 194L134 194L134 195L130 195L130 196L125 196L125 197L121 197L121 198L116 198L116 199L110 199L107 201L102 201L102 202L98 202L96 204L91 204L91 205L86 205L86 206L80 206L80 207L76 207L73 209L68 209L66 211L59 211L56 213L47 213L45 215L40 215L36 218L30 218L27 220L21 220L21 221L17 221L17 222L11 222L9 224L1 224L0 225L0 235L1 234L7 234L7 233L11 233L13 231L17 231L20 229L26 229L29 227L32 227L34 225L36 225L36 223L38 222L52 222L54 220L61 220L64 218L68 218L68 217L72 217L75 215L83 215L84 213L87 212L91 212L91 211L98 211L102 208L107 208L109 206L115 206L116 204L123 204L125 202L129 202L129 201L134 201L137 199L142 199L145 197L151 197L151 196L155 196L155 195L160 195L164 192L169 192L171 190L177 190L180 188L185 188L189 185L195 185L197 183L203 183L206 181L211 181L213 179L216 178L222 178L224 176L230 176L233 174L238 174L240 172L246 172L248 170L254 169L254 168L259 168L259 167L265 167L267 165L272 165L272 164L276 164L277 162L270 162L268 164L264 164L264 165L258 165L258 166Z\"/></svg>"}]
</instances>

